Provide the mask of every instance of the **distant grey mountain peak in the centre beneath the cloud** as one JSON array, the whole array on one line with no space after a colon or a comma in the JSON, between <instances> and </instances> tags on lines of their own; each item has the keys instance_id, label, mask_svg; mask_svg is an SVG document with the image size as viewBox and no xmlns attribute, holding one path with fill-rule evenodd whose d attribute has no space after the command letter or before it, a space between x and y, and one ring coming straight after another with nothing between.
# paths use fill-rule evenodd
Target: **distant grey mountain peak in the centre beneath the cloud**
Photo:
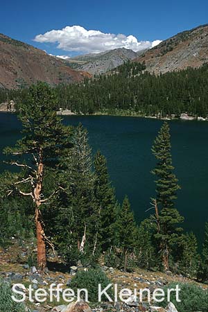
<instances>
[{"instance_id":1,"label":"distant grey mountain peak in the centre beneath the cloud","mask_svg":"<svg viewBox=\"0 0 208 312\"><path fill-rule=\"evenodd\" d=\"M69 62L73 68L98 75L118 67L125 61L133 60L137 56L138 54L130 49L120 48L101 53L78 55L66 62Z\"/></svg>"}]
</instances>

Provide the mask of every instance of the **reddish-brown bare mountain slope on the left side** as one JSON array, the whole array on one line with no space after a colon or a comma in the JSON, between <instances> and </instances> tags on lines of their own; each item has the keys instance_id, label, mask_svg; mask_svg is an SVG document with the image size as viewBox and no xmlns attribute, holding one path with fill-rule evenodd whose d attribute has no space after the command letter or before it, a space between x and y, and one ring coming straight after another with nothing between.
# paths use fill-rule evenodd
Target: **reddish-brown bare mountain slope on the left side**
<instances>
[{"instance_id":1,"label":"reddish-brown bare mountain slope on the left side","mask_svg":"<svg viewBox=\"0 0 208 312\"><path fill-rule=\"evenodd\" d=\"M64 60L0 34L0 87L15 89L37 80L51 85L72 83L85 76L89 74L71 69Z\"/></svg>"}]
</instances>

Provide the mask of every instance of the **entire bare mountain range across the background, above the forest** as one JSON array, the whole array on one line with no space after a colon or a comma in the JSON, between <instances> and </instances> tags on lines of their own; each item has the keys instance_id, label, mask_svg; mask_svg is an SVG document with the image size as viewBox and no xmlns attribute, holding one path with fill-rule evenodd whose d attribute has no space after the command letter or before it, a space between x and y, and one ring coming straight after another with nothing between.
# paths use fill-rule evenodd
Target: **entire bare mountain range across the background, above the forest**
<instances>
[{"instance_id":1,"label":"entire bare mountain range across the background, above the forest","mask_svg":"<svg viewBox=\"0 0 208 312\"><path fill-rule=\"evenodd\" d=\"M208 62L208 24L177 33L145 51L119 48L69 59L0 33L0 88L28 87L37 80L50 85L80 82L127 61L146 64L146 71L156 74L200 67Z\"/></svg>"}]
</instances>

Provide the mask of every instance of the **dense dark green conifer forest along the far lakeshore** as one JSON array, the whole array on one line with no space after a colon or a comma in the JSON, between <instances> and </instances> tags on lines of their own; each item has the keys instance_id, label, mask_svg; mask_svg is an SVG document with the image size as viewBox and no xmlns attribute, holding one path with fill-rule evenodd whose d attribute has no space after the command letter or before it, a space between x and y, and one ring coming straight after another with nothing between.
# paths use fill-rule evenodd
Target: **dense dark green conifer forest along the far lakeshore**
<instances>
[{"instance_id":1,"label":"dense dark green conifer forest along the far lakeshore","mask_svg":"<svg viewBox=\"0 0 208 312\"><path fill-rule=\"evenodd\" d=\"M85 79L83 83L58 85L58 108L78 114L137 114L172 117L188 113L207 117L208 65L156 76L145 65L127 62L108 75ZM24 100L27 89L2 90L0 101Z\"/></svg>"}]
</instances>

